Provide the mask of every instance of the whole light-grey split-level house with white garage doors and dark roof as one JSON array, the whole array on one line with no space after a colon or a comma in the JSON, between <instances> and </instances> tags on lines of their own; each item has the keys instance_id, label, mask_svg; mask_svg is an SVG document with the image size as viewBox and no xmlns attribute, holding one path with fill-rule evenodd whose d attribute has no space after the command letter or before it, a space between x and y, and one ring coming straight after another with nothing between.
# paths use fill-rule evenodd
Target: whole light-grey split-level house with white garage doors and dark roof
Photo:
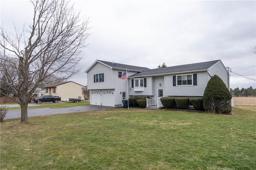
<instances>
[{"instance_id":1,"label":"whole light-grey split-level house with white garage doors and dark roof","mask_svg":"<svg viewBox=\"0 0 256 170\"><path fill-rule=\"evenodd\" d=\"M128 92L127 80L120 78L126 69ZM96 60L85 73L90 104L100 106L120 107L122 100L134 96L158 101L168 96L203 96L215 74L228 88L228 71L220 60L156 69Z\"/></svg>"}]
</instances>

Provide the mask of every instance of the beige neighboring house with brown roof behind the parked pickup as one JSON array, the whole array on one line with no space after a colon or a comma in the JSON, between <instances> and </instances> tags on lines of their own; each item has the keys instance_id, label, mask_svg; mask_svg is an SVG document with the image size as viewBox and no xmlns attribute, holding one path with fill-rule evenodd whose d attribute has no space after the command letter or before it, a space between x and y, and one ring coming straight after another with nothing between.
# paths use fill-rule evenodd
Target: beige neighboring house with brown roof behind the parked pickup
<instances>
[{"instance_id":1,"label":"beige neighboring house with brown roof behind the parked pickup","mask_svg":"<svg viewBox=\"0 0 256 170\"><path fill-rule=\"evenodd\" d=\"M80 98L84 100L84 95L82 94L83 87L83 85L72 81L55 83L44 87L44 95L59 96L61 97L61 100L66 100L68 98Z\"/></svg>"}]
</instances>

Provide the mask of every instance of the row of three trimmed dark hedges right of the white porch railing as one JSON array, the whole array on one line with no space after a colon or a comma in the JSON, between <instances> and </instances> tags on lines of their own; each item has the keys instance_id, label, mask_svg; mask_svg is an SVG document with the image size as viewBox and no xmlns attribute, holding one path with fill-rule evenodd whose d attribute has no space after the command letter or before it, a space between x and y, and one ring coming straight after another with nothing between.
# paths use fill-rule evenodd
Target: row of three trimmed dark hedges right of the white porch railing
<instances>
[{"instance_id":1,"label":"row of three trimmed dark hedges right of the white porch railing","mask_svg":"<svg viewBox=\"0 0 256 170\"><path fill-rule=\"evenodd\" d=\"M189 106L189 102L194 106L196 110L204 110L202 98L173 98L165 97L160 99L163 106L167 109L177 106L179 109L186 109Z\"/></svg>"}]
</instances>

